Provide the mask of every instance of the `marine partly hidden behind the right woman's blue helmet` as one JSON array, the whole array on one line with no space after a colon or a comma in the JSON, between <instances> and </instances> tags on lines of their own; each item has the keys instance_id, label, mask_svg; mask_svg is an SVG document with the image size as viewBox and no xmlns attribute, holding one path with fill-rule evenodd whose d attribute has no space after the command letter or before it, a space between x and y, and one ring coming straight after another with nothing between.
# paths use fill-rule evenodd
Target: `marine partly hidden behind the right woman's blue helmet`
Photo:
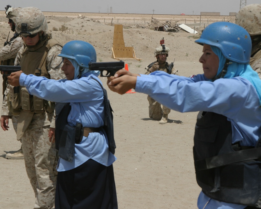
<instances>
[{"instance_id":1,"label":"marine partly hidden behind the right woman's blue helmet","mask_svg":"<svg viewBox=\"0 0 261 209\"><path fill-rule=\"evenodd\" d=\"M252 40L250 66L261 79L261 4L249 4L236 14L236 24L245 28Z\"/></svg>"}]
</instances>

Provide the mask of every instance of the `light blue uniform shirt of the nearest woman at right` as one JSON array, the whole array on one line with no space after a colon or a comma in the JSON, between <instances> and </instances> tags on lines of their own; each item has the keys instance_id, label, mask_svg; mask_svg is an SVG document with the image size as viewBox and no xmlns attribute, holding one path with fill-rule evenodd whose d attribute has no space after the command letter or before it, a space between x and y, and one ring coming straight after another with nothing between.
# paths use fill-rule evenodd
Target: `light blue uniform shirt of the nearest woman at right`
<instances>
[{"instance_id":1,"label":"light blue uniform shirt of the nearest woman at right","mask_svg":"<svg viewBox=\"0 0 261 209\"><path fill-rule=\"evenodd\" d=\"M245 78L205 81L203 74L192 78L155 71L137 77L136 92L148 94L164 106L179 112L209 111L224 115L232 124L232 142L255 146L261 135L261 108L254 86ZM200 209L242 209L245 205L198 198Z\"/></svg>"}]
</instances>

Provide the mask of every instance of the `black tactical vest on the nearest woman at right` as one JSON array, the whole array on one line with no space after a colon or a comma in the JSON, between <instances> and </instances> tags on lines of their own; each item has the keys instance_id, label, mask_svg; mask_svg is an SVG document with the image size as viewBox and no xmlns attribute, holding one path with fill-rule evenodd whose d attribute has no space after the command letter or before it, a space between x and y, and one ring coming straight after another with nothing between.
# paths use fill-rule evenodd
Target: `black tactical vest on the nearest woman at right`
<instances>
[{"instance_id":1,"label":"black tactical vest on the nearest woman at right","mask_svg":"<svg viewBox=\"0 0 261 209\"><path fill-rule=\"evenodd\" d=\"M199 112L194 135L194 164L198 185L208 197L261 207L261 142L256 147L232 144L227 117Z\"/></svg>"}]
</instances>

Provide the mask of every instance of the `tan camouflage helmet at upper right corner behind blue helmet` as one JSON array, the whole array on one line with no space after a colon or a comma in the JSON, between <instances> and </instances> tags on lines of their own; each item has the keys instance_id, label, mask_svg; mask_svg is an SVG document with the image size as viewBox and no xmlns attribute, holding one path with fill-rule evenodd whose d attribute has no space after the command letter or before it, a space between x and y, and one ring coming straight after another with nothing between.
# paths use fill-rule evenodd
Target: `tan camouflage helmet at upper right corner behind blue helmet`
<instances>
[{"instance_id":1,"label":"tan camouflage helmet at upper right corner behind blue helmet","mask_svg":"<svg viewBox=\"0 0 261 209\"><path fill-rule=\"evenodd\" d=\"M261 4L249 4L236 14L236 24L245 28L250 36L261 34Z\"/></svg>"}]
</instances>

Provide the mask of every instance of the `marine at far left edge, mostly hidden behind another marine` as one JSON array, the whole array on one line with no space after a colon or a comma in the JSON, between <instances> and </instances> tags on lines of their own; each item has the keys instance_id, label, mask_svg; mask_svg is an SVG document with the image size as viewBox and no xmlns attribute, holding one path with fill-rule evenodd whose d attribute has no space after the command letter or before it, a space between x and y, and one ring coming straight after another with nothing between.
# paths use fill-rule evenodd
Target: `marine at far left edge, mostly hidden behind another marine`
<instances>
[{"instance_id":1,"label":"marine at far left edge, mostly hidden behind another marine","mask_svg":"<svg viewBox=\"0 0 261 209\"><path fill-rule=\"evenodd\" d=\"M11 31L15 32L15 22L16 22L16 16L18 15L19 11L22 9L20 7L11 7L7 5L5 8L8 18L8 24L11 27ZM4 47L0 50L0 63L1 65L14 65L15 57L19 51L19 49L23 46L23 39L19 37L18 33L14 33L13 37L8 41L4 43ZM7 76L3 74L3 105L7 106L7 98L5 97L5 91L7 87ZM11 116L11 115L10 115ZM17 120L16 118L12 118L12 123L14 130L16 132L17 127ZM5 155L5 158L7 159L23 159L23 152L22 147L15 153L7 153Z\"/></svg>"}]
</instances>

